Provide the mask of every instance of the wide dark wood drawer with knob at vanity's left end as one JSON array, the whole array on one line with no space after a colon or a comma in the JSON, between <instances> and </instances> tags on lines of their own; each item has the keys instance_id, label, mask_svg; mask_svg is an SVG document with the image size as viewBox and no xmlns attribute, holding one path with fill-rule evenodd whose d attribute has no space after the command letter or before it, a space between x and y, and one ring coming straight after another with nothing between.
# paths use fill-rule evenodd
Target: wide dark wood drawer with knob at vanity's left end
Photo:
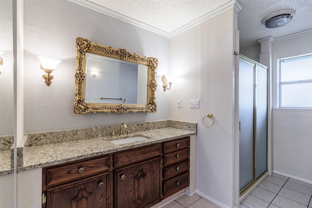
<instances>
[{"instance_id":1,"label":"wide dark wood drawer with knob at vanity's left end","mask_svg":"<svg viewBox=\"0 0 312 208\"><path fill-rule=\"evenodd\" d=\"M55 186L109 170L110 157L46 169L46 186Z\"/></svg>"}]
</instances>

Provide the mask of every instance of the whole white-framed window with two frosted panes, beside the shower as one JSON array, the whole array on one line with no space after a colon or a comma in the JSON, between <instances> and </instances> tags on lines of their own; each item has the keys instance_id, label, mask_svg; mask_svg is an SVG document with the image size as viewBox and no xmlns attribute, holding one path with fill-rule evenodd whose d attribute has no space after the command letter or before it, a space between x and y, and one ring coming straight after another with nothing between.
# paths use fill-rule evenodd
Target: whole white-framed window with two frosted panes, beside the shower
<instances>
[{"instance_id":1,"label":"whole white-framed window with two frosted panes, beside the shower","mask_svg":"<svg viewBox=\"0 0 312 208\"><path fill-rule=\"evenodd\" d=\"M312 109L312 54L279 60L279 107Z\"/></svg>"}]
</instances>

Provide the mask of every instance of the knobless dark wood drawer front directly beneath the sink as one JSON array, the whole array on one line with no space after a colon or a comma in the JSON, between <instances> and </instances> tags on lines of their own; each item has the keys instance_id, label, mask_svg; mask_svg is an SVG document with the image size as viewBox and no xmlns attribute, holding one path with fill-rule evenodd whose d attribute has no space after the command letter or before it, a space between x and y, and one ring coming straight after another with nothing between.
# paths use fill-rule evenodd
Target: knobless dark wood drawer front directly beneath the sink
<instances>
[{"instance_id":1,"label":"knobless dark wood drawer front directly beneath the sink","mask_svg":"<svg viewBox=\"0 0 312 208\"><path fill-rule=\"evenodd\" d=\"M114 154L114 166L121 167L124 165L130 165L133 163L137 163L143 160L159 156L160 154L161 154L160 144L123 151Z\"/></svg>"}]
</instances>

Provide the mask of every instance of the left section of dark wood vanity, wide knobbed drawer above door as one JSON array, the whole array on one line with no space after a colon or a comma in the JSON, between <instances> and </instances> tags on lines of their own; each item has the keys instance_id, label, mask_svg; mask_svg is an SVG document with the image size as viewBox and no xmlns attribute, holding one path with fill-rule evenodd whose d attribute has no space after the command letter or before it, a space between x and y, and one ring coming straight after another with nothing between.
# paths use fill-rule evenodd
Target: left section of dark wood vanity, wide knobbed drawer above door
<instances>
[{"instance_id":1,"label":"left section of dark wood vanity, wide knobbed drawer above door","mask_svg":"<svg viewBox=\"0 0 312 208\"><path fill-rule=\"evenodd\" d=\"M42 169L43 208L111 208L110 156Z\"/></svg>"}]
</instances>

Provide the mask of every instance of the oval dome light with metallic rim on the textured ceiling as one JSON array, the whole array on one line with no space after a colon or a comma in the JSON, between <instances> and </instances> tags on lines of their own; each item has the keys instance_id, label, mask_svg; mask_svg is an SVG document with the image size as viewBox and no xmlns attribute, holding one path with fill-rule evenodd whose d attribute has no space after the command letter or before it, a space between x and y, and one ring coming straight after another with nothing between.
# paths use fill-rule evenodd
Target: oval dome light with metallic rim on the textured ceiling
<instances>
[{"instance_id":1,"label":"oval dome light with metallic rim on the textured ceiling","mask_svg":"<svg viewBox=\"0 0 312 208\"><path fill-rule=\"evenodd\" d=\"M296 10L294 9L283 9L277 12L273 12L267 17L261 20L261 24L263 24L266 28L277 28L288 24L293 16L296 14Z\"/></svg>"}]
</instances>

